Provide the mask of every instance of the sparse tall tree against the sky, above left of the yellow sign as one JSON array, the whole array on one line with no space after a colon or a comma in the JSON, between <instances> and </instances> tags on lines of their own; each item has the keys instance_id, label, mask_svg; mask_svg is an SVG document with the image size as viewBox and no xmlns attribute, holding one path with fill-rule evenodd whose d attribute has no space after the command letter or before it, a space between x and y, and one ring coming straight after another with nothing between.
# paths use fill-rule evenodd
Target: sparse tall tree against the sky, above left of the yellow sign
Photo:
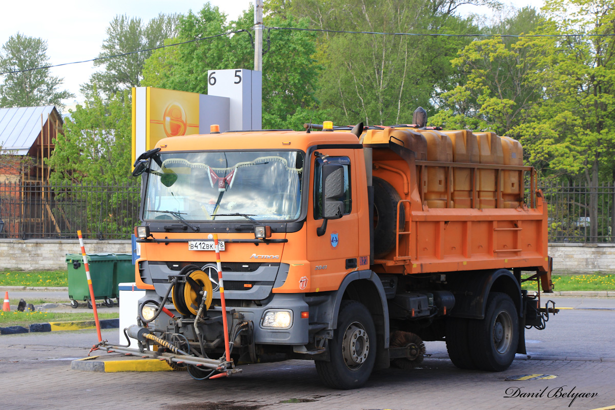
<instances>
[{"instance_id":1,"label":"sparse tall tree against the sky, above left of the yellow sign","mask_svg":"<svg viewBox=\"0 0 615 410\"><path fill-rule=\"evenodd\" d=\"M102 51L98 54L98 58L102 60L94 61L95 66L103 66L104 70L94 73L90 82L96 84L98 90L108 96L119 90L140 86L143 63L149 58L151 51L114 58L105 57L160 47L165 39L177 36L178 20L178 14L159 14L145 24L138 17L116 15L109 23L108 37L103 41ZM84 85L86 93L92 90L92 84Z\"/></svg>"}]
</instances>

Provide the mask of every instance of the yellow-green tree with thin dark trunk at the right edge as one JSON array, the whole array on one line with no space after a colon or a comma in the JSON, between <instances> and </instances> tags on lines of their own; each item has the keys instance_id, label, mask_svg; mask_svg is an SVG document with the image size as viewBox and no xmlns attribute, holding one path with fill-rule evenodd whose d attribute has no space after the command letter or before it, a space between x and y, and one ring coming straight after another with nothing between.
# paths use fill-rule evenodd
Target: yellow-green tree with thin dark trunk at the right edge
<instances>
[{"instance_id":1,"label":"yellow-green tree with thin dark trunk at the right edge","mask_svg":"<svg viewBox=\"0 0 615 410\"><path fill-rule=\"evenodd\" d=\"M519 132L532 160L587 183L593 240L598 183L615 177L615 1L549 0L543 10L568 36L546 49L544 103Z\"/></svg>"}]
</instances>

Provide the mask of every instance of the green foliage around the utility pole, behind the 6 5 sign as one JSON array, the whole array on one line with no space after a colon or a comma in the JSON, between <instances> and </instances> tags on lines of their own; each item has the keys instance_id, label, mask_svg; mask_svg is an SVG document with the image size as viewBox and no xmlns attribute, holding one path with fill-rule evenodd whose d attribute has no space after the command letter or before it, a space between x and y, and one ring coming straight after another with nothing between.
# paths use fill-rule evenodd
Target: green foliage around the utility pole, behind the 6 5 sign
<instances>
[{"instance_id":1,"label":"green foliage around the utility pole, behind the 6 5 sign","mask_svg":"<svg viewBox=\"0 0 615 410\"><path fill-rule=\"evenodd\" d=\"M307 27L307 20L274 15L265 18L268 27ZM167 44L208 37L225 31L249 30L253 9L236 21L207 3L197 13L180 18L179 36ZM266 32L267 35L267 32ZM314 90L320 67L315 64L316 34L306 31L271 30L271 48L266 40L263 56L263 128L279 128L300 108L314 106ZM229 52L232 50L232 52ZM247 33L156 50L146 61L142 84L165 89L207 93L210 69L252 68L254 50ZM303 122L308 122L304 119Z\"/></svg>"}]
</instances>

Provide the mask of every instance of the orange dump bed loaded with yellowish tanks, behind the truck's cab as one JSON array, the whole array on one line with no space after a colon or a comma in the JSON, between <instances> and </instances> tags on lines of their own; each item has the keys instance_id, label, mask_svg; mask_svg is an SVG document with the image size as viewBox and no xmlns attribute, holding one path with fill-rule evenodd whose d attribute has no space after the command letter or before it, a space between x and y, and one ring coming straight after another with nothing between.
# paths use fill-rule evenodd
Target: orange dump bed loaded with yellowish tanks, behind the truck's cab
<instances>
[{"instance_id":1,"label":"orange dump bed loaded with yellowish tanks, behind the truck's cab","mask_svg":"<svg viewBox=\"0 0 615 410\"><path fill-rule=\"evenodd\" d=\"M373 178L401 199L388 233L395 246L375 259L375 269L549 270L547 205L518 141L492 132L384 128L368 130L362 143ZM387 195L379 184L375 197Z\"/></svg>"}]
</instances>

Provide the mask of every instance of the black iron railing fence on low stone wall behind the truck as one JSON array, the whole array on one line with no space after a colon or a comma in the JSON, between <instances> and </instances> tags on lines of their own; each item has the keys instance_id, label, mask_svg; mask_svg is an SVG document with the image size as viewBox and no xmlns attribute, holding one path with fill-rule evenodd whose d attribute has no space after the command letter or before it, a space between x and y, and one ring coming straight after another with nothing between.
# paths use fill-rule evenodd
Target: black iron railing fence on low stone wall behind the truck
<instances>
[{"instance_id":1,"label":"black iron railing fence on low stone wall behind the truck","mask_svg":"<svg viewBox=\"0 0 615 410\"><path fill-rule=\"evenodd\" d=\"M529 184L528 184L529 186ZM615 183L538 183L549 203L549 242L615 242ZM129 239L138 185L0 183L0 237Z\"/></svg>"}]
</instances>

